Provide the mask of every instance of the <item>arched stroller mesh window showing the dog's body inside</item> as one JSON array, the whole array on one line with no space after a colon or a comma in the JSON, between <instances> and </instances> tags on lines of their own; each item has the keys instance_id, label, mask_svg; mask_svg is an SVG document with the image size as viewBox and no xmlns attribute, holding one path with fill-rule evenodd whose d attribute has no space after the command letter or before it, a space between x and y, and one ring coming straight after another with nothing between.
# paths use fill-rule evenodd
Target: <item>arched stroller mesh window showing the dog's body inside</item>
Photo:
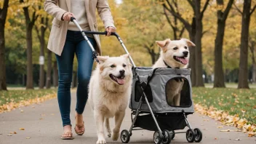
<instances>
[{"instance_id":1,"label":"arched stroller mesh window showing the dog's body inside","mask_svg":"<svg viewBox=\"0 0 256 144\"><path fill-rule=\"evenodd\" d=\"M169 79L165 86L168 105L176 107L190 107L192 105L190 90L187 79L183 77Z\"/></svg>"}]
</instances>

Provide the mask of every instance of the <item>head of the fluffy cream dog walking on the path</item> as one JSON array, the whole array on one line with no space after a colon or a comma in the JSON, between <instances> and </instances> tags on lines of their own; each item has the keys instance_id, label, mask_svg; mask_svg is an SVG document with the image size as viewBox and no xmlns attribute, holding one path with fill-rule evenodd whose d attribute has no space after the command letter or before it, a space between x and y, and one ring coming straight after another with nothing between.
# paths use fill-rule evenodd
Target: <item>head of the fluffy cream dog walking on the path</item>
<instances>
[{"instance_id":1,"label":"head of the fluffy cream dog walking on the path","mask_svg":"<svg viewBox=\"0 0 256 144\"><path fill-rule=\"evenodd\" d=\"M100 76L106 81L117 85L124 85L132 77L132 65L129 63L129 55L120 57L98 56L100 64Z\"/></svg>"}]
</instances>

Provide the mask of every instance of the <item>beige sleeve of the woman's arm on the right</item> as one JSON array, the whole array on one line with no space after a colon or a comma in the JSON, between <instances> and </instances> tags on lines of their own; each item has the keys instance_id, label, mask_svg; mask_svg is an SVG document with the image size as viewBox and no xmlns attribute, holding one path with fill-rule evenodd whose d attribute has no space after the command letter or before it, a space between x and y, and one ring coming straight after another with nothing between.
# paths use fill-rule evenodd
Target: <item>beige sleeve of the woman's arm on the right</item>
<instances>
[{"instance_id":1,"label":"beige sleeve of the woman's arm on the right","mask_svg":"<svg viewBox=\"0 0 256 144\"><path fill-rule=\"evenodd\" d=\"M111 9L108 5L108 0L97 0L97 12L100 15L101 20L105 25L105 28L113 27L116 28L111 15Z\"/></svg>"}]
</instances>

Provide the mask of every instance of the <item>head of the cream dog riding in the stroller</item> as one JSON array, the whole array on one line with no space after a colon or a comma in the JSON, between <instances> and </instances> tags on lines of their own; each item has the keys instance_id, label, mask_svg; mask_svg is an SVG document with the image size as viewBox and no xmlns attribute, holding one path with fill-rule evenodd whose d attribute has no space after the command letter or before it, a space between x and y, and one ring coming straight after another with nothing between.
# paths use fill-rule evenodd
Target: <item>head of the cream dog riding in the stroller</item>
<instances>
[{"instance_id":1,"label":"head of the cream dog riding in the stroller","mask_svg":"<svg viewBox=\"0 0 256 144\"><path fill-rule=\"evenodd\" d=\"M156 41L156 44L161 47L161 57L172 68L186 68L189 60L188 47L195 47L192 41L188 39L180 39L171 41Z\"/></svg>"}]
</instances>

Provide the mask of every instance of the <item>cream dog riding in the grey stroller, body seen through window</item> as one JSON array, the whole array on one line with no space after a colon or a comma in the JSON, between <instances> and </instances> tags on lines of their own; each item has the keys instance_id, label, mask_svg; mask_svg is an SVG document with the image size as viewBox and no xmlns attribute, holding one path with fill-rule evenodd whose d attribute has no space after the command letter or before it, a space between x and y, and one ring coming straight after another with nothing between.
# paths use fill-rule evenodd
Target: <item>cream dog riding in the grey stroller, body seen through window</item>
<instances>
[{"instance_id":1,"label":"cream dog riding in the grey stroller, body seen through window","mask_svg":"<svg viewBox=\"0 0 256 144\"><path fill-rule=\"evenodd\" d=\"M161 47L159 60L153 68L187 68L189 60L188 47L195 47L192 41L180 39L171 41L156 41ZM167 83L167 103L169 105L180 105L180 91L183 89L184 79L172 79Z\"/></svg>"}]
</instances>

